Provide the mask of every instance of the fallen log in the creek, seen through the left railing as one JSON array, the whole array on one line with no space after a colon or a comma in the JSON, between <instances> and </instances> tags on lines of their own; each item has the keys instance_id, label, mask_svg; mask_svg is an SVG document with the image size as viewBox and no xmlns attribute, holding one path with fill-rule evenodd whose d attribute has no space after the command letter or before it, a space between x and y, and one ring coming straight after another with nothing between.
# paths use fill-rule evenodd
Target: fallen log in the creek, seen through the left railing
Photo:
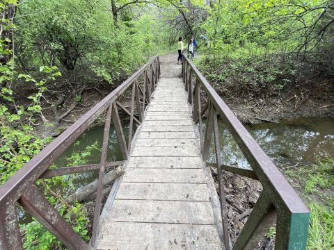
<instances>
[{"instance_id":1,"label":"fallen log in the creek, seen through the left railing","mask_svg":"<svg viewBox=\"0 0 334 250\"><path fill-rule=\"evenodd\" d=\"M106 173L103 178L103 185L108 185L116 180L116 178L120 177L124 173L124 169L122 169L121 166L117 167L116 169L113 169L111 172ZM77 191L75 191L73 194L70 195L66 199L67 204L72 204L75 201L81 202L86 199L92 200L93 194L96 193L97 190L97 179L95 181L92 181L91 183L85 185L83 188L79 188ZM105 188L103 190L103 194L107 194L107 191L110 188ZM95 194L96 196L96 194ZM93 199L95 199L95 196Z\"/></svg>"}]
</instances>

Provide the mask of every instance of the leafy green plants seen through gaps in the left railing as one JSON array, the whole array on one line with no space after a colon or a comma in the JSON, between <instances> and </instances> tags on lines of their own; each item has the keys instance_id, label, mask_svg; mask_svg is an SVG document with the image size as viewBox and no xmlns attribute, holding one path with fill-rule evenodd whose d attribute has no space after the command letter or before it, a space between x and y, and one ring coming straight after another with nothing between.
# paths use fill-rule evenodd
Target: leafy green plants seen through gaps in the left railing
<instances>
[{"instance_id":1,"label":"leafy green plants seen through gaps in the left railing","mask_svg":"<svg viewBox=\"0 0 334 250\"><path fill-rule=\"evenodd\" d=\"M75 146L78 144L79 142L74 144L74 152L67 158L67 167L86 164L92 153L100 150L97 147L97 142L95 142L87 146L84 151L75 151ZM87 218L86 208L80 203L76 202L73 205L68 205L65 201L67 194L74 192L73 181L76 176L77 174L56 176L51 179L40 180L37 184L44 188L44 194L49 203L51 203L52 206L59 206L58 213L72 226L74 231L76 231L82 239L87 241L89 240L87 230L89 220ZM45 230L35 219L28 224L22 224L20 228L25 233L24 249L65 249L63 244L49 231Z\"/></svg>"}]
</instances>

